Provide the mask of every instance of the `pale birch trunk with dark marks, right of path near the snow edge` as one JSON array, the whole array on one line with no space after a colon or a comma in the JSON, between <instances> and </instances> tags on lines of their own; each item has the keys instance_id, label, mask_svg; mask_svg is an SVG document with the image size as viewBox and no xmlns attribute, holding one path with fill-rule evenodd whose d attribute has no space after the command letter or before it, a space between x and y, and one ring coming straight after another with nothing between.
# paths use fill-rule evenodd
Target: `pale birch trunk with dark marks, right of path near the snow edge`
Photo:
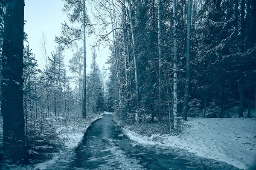
<instances>
[{"instance_id":1,"label":"pale birch trunk with dark marks, right of path near the snow edge","mask_svg":"<svg viewBox=\"0 0 256 170\"><path fill-rule=\"evenodd\" d=\"M173 8L173 131L177 132L177 13L176 13L176 0L172 0Z\"/></svg>"}]
</instances>

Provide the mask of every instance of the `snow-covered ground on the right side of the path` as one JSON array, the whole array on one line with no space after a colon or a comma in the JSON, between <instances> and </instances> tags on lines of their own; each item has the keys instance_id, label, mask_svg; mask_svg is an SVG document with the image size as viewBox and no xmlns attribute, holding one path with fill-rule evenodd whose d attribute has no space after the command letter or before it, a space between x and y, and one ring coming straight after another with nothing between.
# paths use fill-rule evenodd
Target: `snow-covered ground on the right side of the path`
<instances>
[{"instance_id":1,"label":"snow-covered ground on the right side of the path","mask_svg":"<svg viewBox=\"0 0 256 170\"><path fill-rule=\"evenodd\" d=\"M140 144L179 147L209 159L224 161L240 169L256 161L256 120L253 118L188 118L189 128L178 136L142 136L123 128L125 135Z\"/></svg>"}]
</instances>

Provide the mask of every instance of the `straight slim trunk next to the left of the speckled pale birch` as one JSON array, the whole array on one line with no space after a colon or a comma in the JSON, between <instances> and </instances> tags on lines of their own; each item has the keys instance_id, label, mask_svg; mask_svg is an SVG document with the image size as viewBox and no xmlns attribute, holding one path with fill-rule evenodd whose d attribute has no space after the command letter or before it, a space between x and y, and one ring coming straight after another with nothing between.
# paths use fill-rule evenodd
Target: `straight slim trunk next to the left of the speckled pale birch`
<instances>
[{"instance_id":1,"label":"straight slim trunk next to the left of the speckled pale birch","mask_svg":"<svg viewBox=\"0 0 256 170\"><path fill-rule=\"evenodd\" d=\"M163 51L162 51L162 45L163 45L163 39L162 39L162 1L157 1L158 6L158 59L159 59L159 70L158 70L158 116L161 114L161 72L162 72L162 57L163 57Z\"/></svg>"}]
</instances>

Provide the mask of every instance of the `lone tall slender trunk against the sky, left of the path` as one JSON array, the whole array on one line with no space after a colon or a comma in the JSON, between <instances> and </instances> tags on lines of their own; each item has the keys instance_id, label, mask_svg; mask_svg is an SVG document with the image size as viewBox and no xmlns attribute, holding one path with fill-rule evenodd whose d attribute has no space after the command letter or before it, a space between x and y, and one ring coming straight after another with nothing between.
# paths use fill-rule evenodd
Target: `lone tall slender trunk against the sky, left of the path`
<instances>
[{"instance_id":1,"label":"lone tall slender trunk against the sky, left of the path","mask_svg":"<svg viewBox=\"0 0 256 170\"><path fill-rule=\"evenodd\" d=\"M83 118L86 118L86 37L85 37L85 0L83 0L83 28L84 28L84 95L83 95Z\"/></svg>"}]
</instances>

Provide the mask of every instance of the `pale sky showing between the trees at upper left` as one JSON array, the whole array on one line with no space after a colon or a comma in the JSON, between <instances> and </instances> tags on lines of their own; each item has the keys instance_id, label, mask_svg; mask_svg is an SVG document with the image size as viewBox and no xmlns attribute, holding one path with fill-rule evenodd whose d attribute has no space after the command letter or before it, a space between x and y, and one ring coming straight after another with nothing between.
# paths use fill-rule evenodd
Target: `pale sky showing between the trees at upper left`
<instances>
[{"instance_id":1,"label":"pale sky showing between the trees at upper left","mask_svg":"<svg viewBox=\"0 0 256 170\"><path fill-rule=\"evenodd\" d=\"M66 14L62 12L64 3L62 0L25 0L25 20L27 21L24 31L28 34L29 48L32 49L32 53L35 54L38 60L39 68L44 68L44 57L41 53L40 41L41 35L44 31L47 40L47 53L51 57L51 52L55 51L57 43L54 42L55 35L61 35L61 23L68 21ZM91 18L91 22L94 22L94 17L91 14L90 9L93 8L87 4L88 14ZM111 37L110 37L111 38ZM91 46L93 42L96 42L96 36L91 35L86 37L86 72L90 72L90 62L92 59ZM26 45L25 43L24 45ZM82 42L80 41L82 46ZM108 68L105 63L109 57L109 48L101 47L101 51L96 49L98 57L96 62L99 64L99 68L102 69L103 65ZM72 57L73 52L71 50L64 51L65 65L68 65L68 60ZM67 68L68 71L68 68ZM68 74L71 75L70 73Z\"/></svg>"}]
</instances>

